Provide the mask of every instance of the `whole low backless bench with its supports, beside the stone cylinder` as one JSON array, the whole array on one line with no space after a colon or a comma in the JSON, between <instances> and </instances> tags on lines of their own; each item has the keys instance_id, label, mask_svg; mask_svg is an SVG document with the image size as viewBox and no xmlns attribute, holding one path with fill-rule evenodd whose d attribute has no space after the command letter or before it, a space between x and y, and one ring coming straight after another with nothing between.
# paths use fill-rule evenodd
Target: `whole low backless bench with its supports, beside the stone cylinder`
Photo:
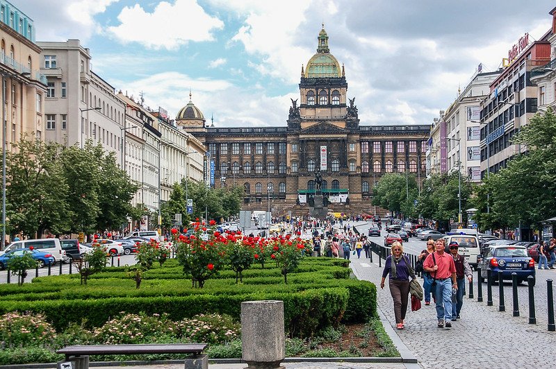
<instances>
[{"instance_id":1,"label":"whole low backless bench with its supports, beside the stone cylinder","mask_svg":"<svg viewBox=\"0 0 556 369\"><path fill-rule=\"evenodd\" d=\"M145 343L142 345L76 345L56 351L65 354L65 363L58 369L89 369L90 355L111 354L191 354L185 361L185 369L207 369L208 358L202 352L206 343ZM72 362L72 367L67 365Z\"/></svg>"}]
</instances>

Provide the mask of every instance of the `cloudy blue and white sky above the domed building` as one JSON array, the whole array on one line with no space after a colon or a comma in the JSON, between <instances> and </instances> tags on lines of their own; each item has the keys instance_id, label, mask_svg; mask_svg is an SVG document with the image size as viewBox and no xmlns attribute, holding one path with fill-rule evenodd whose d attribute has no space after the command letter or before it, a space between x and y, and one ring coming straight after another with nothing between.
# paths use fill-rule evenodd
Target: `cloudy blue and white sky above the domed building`
<instances>
[{"instance_id":1,"label":"cloudy blue and white sky above the domed building","mask_svg":"<svg viewBox=\"0 0 556 369\"><path fill-rule=\"evenodd\" d=\"M551 27L548 0L10 0L37 41L78 39L92 70L153 110L286 126L325 25L363 126L430 124L482 63Z\"/></svg>"}]
</instances>

